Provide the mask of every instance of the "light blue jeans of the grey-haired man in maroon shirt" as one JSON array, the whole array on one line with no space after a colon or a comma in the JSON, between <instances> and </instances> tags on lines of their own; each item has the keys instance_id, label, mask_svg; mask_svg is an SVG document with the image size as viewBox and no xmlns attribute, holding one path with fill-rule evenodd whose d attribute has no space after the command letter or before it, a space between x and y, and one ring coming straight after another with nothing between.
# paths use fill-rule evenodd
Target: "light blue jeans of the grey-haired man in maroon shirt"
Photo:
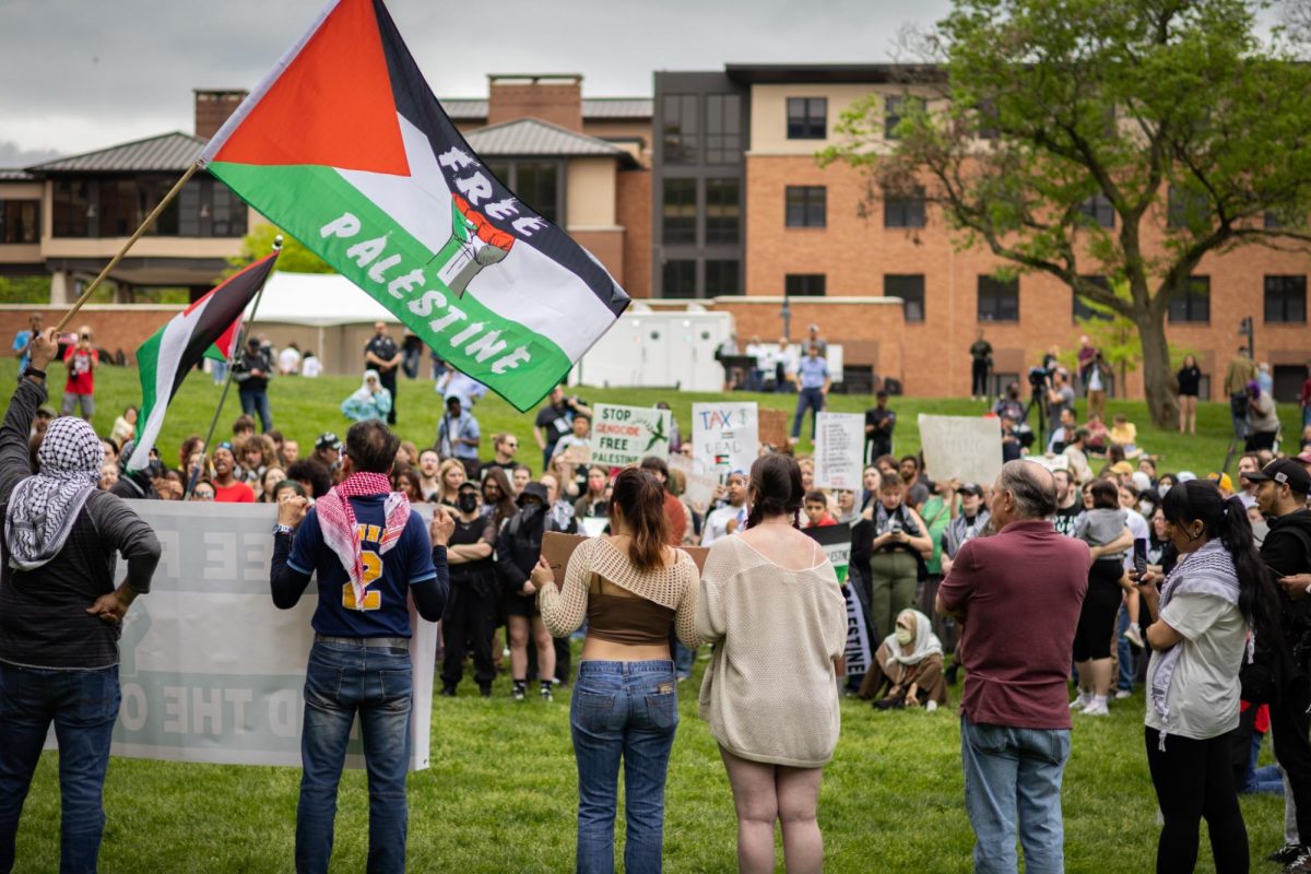
<instances>
[{"instance_id":1,"label":"light blue jeans of the grey-haired man in maroon shirt","mask_svg":"<svg viewBox=\"0 0 1311 874\"><path fill-rule=\"evenodd\" d=\"M1028 874L1065 870L1061 777L1068 729L1012 729L961 717L965 810L974 828L974 870L1016 871L1019 826Z\"/></svg>"}]
</instances>

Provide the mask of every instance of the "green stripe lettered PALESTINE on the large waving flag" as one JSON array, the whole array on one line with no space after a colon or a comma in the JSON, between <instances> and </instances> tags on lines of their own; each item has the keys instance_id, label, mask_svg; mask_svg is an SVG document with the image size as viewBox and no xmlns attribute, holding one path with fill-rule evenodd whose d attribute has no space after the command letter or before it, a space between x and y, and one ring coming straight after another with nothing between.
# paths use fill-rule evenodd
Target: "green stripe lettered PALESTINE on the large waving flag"
<instances>
[{"instance_id":1,"label":"green stripe lettered PALESTINE on the large waving flag","mask_svg":"<svg viewBox=\"0 0 1311 874\"><path fill-rule=\"evenodd\" d=\"M416 240L333 168L214 161L208 170L395 313L438 355L520 411L532 409L569 372L569 356L549 337L492 312L472 295L459 297L451 292L437 275L438 253ZM443 203L442 208L448 207ZM359 219L358 233L345 240L321 233L346 212ZM363 267L346 254L351 246L380 238L385 240L385 250ZM399 261L380 270L393 256ZM421 273L420 279L401 282L414 271ZM313 305L312 300L305 301L307 309Z\"/></svg>"}]
</instances>

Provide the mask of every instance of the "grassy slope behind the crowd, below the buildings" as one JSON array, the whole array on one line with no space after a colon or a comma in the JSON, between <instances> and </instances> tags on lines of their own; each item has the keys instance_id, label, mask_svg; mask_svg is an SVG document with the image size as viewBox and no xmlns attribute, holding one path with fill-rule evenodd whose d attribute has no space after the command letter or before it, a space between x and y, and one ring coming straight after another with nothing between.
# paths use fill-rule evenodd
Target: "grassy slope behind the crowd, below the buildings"
<instances>
[{"instance_id":1,"label":"grassy slope behind the crowd, below the buildings","mask_svg":"<svg viewBox=\"0 0 1311 874\"><path fill-rule=\"evenodd\" d=\"M0 362L0 380L12 379L16 363L13 359ZM63 368L51 367L51 402L58 406L63 393ZM274 427L287 438L300 443L302 455L313 448L313 439L323 431L336 431L343 436L350 425L340 413L341 401L359 388L359 380L349 376L324 376L315 380L300 377L277 379L269 388L273 408ZM430 446L437 439L437 425L440 419L440 400L433 390L431 380L401 379L399 388L399 422L401 436L413 440L416 446ZM207 373L193 373L184 383L177 398L169 408L164 431L160 436L160 455L165 464L177 466L177 447L190 434L203 435L218 405L220 388L214 385ZM578 394L587 401L608 404L629 404L650 406L657 401L669 401L674 418L679 422L683 436L690 436L692 404L697 401L722 400L721 393L675 392L673 389L623 389L623 388L581 388ZM104 367L96 373L96 430L109 434L114 417L128 405L140 404L140 377L135 368ZM762 406L788 410L796 406L792 394L747 394L734 393L733 400L754 400ZM873 398L863 394L831 394L830 409L838 413L863 413L873 406ZM898 455L919 451L919 430L916 417L920 413L936 415L977 415L983 411L982 404L958 398L893 398L890 406L897 410L898 425L895 449ZM215 440L227 439L232 434L232 419L240 414L236 388L229 392ZM1080 402L1079 413L1084 405ZM1286 443L1295 444L1301 432L1299 410L1285 404L1280 408L1283 421ZM1162 456L1160 472L1193 470L1202 476L1219 469L1231 434L1227 404L1200 404L1197 411L1197 436L1184 436L1175 431L1163 431L1151 426L1147 408L1142 401L1109 401L1108 417L1125 413L1138 426L1139 446L1152 455ZM517 411L499 397L488 396L477 404L475 414L482 428L484 457L492 455L492 434L511 431L519 438L519 459L535 472L540 472L541 455L536 451L532 436L532 415ZM800 449L809 451L809 439L802 440ZM1232 465L1231 465L1232 472ZM932 472L929 472L932 474Z\"/></svg>"}]
</instances>

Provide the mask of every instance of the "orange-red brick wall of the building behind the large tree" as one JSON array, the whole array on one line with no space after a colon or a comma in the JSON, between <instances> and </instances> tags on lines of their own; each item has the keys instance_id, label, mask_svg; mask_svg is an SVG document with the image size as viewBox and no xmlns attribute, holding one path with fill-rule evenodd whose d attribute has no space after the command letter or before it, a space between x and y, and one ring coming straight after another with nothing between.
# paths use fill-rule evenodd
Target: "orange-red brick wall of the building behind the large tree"
<instances>
[{"instance_id":1,"label":"orange-red brick wall of the building behind the large tree","mask_svg":"<svg viewBox=\"0 0 1311 874\"><path fill-rule=\"evenodd\" d=\"M826 186L826 228L784 227L788 185ZM1080 329L1074 322L1067 286L1046 275L1021 276L1020 320L979 324L978 276L992 273L1003 262L982 248L958 250L941 216L932 208L928 227L915 229L885 228L878 202L868 218L861 218L865 187L864 177L844 165L821 169L806 156L747 157L747 295L781 295L787 274L822 273L827 276L830 297L880 296L886 274L923 274L923 322L909 322L889 332L886 317L876 314L873 308L857 309L840 320L817 317L830 341L880 341L880 359L901 362L901 379L909 394L966 394L970 380L966 350L981 326L998 350L999 370L1013 372L1020 368L1012 363L1036 364L1051 346L1065 350L1078 346ZM1158 245L1159 235L1152 236L1148 245ZM1262 283L1266 274L1304 275L1308 266L1304 254L1259 246L1203 259L1197 275L1210 276L1210 322L1167 325L1167 335L1173 347L1198 355L1217 387L1215 397L1219 397L1224 363L1239 346L1236 332L1244 316L1256 320L1257 360L1304 360L1311 349L1311 332L1306 325L1264 324ZM806 320L793 317L793 325L798 326L794 337L801 335ZM773 330L777 329L771 333ZM751 329L739 325L738 333L750 334ZM890 346L899 346L899 355L891 352ZM891 371L885 375L897 376ZM1127 381L1130 396L1142 397L1141 372L1130 373Z\"/></svg>"}]
</instances>

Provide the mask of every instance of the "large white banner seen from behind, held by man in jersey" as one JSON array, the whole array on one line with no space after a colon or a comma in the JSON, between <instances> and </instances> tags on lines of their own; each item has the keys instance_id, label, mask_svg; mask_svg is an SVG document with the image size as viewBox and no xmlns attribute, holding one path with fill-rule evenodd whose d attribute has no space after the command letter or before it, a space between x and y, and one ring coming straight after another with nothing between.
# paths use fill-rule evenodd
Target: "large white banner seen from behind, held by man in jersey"
<instances>
[{"instance_id":1,"label":"large white banner seen from behind, held by man in jersey","mask_svg":"<svg viewBox=\"0 0 1311 874\"><path fill-rule=\"evenodd\" d=\"M315 580L273 605L271 506L130 501L163 557L119 641L123 705L110 752L132 759L299 765ZM430 512L430 510L429 510ZM427 768L437 625L410 607L410 768ZM51 732L51 740L54 734ZM52 743L50 744L52 746ZM359 722L346 763L363 767Z\"/></svg>"}]
</instances>

